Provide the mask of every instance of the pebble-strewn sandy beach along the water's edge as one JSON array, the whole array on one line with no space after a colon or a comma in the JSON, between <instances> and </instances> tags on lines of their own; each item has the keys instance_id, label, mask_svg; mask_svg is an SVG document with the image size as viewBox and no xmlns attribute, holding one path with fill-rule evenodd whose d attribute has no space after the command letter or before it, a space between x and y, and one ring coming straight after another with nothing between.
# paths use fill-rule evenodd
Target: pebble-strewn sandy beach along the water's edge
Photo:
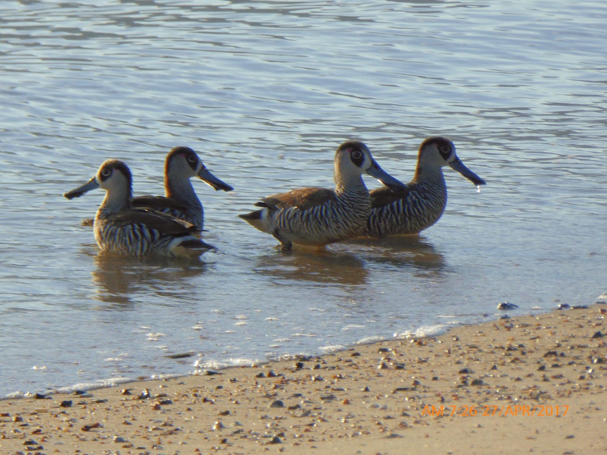
<instances>
[{"instance_id":1,"label":"pebble-strewn sandy beach along the water's edge","mask_svg":"<svg viewBox=\"0 0 607 455\"><path fill-rule=\"evenodd\" d=\"M607 453L607 305L0 401L2 453Z\"/></svg>"}]
</instances>

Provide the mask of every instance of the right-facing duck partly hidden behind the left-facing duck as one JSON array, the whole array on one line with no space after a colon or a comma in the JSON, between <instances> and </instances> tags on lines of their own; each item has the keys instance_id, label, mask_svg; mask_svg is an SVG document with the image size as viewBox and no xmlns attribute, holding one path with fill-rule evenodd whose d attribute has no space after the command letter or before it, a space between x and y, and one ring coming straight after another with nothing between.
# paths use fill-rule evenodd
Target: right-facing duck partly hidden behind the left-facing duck
<instances>
[{"instance_id":1,"label":"right-facing duck partly hidden behind the left-facing duck","mask_svg":"<svg viewBox=\"0 0 607 455\"><path fill-rule=\"evenodd\" d=\"M234 187L215 177L190 147L174 147L164 160L164 196L138 196L133 207L144 207L188 221L203 231L205 214L190 178L197 177L216 191Z\"/></svg>"}]
</instances>

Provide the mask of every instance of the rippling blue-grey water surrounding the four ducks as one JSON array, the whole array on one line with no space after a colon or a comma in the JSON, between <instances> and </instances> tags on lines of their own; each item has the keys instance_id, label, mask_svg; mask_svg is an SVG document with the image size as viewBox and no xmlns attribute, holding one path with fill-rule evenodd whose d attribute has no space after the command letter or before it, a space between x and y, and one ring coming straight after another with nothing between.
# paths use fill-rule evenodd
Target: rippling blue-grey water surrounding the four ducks
<instances>
[{"instance_id":1,"label":"rippling blue-grey water surrounding the four ducks","mask_svg":"<svg viewBox=\"0 0 607 455\"><path fill-rule=\"evenodd\" d=\"M200 3L0 4L0 396L316 354L607 291L602 1ZM351 138L407 181L435 134L488 184L447 169L447 210L419 238L281 255L236 217L330 186ZM219 252L98 254L80 221L102 192L61 194L110 157L135 194L160 194L177 145L236 187L194 183Z\"/></svg>"}]
</instances>

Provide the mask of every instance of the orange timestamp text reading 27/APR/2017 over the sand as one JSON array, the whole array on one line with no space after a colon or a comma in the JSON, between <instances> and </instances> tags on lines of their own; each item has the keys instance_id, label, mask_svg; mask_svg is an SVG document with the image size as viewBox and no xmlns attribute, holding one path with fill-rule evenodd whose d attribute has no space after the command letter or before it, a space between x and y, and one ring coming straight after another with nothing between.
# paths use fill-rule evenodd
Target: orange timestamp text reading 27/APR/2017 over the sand
<instances>
[{"instance_id":1,"label":"orange timestamp text reading 27/APR/2017 over the sand","mask_svg":"<svg viewBox=\"0 0 607 455\"><path fill-rule=\"evenodd\" d=\"M452 406L424 406L422 416L449 416L449 417L475 417L475 416L537 416L558 417L567 415L567 405L452 405Z\"/></svg>"}]
</instances>

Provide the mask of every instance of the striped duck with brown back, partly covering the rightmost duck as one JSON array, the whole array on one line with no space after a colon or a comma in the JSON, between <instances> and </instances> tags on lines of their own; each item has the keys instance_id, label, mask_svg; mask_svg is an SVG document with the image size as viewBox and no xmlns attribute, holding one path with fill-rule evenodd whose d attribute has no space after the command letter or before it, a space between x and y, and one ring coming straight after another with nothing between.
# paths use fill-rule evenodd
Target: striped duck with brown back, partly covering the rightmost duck
<instances>
[{"instance_id":1,"label":"striped duck with brown back, partly covering the rightmost duck","mask_svg":"<svg viewBox=\"0 0 607 455\"><path fill-rule=\"evenodd\" d=\"M322 247L344 240L364 228L371 212L362 174L387 187L404 187L379 167L366 144L351 140L335 153L334 189L305 187L274 194L255 204L259 210L239 217L273 235L283 251L290 251L293 243Z\"/></svg>"}]
</instances>

